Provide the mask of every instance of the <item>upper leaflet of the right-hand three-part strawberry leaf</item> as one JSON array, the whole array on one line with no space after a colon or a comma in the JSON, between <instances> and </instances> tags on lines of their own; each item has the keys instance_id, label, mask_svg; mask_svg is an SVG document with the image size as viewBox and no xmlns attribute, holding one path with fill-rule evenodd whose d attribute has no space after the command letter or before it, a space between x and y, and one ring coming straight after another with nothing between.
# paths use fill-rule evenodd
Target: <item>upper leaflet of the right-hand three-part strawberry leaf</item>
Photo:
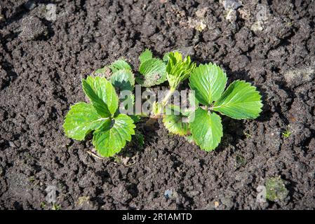
<instances>
[{"instance_id":1,"label":"upper leaflet of the right-hand three-part strawberry leaf","mask_svg":"<svg viewBox=\"0 0 315 224\"><path fill-rule=\"evenodd\" d=\"M227 84L227 75L216 64L200 64L192 72L189 81L196 99L203 105L210 105L221 97Z\"/></svg>"}]
</instances>

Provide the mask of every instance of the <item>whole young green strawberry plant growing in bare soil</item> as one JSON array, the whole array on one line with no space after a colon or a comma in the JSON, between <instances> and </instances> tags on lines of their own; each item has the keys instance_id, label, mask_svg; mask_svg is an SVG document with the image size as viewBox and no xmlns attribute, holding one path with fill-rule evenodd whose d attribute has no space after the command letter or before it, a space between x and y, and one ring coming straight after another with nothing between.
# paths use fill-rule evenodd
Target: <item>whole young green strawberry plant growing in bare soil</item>
<instances>
[{"instance_id":1,"label":"whole young green strawberry plant growing in bare soil","mask_svg":"<svg viewBox=\"0 0 315 224\"><path fill-rule=\"evenodd\" d=\"M135 124L148 115L119 112L122 101L119 95L124 90L135 92L135 83L147 88L167 81L168 92L161 102L152 104L147 123L163 118L170 134L185 137L204 151L213 151L220 144L223 136L220 115L238 120L255 119L262 111L256 87L244 80L234 80L227 86L227 74L217 64L196 66L189 56L183 57L180 52L168 52L159 59L151 50L142 52L139 60L138 71L125 59L118 59L82 79L89 102L77 102L70 107L63 124L67 137L82 141L92 132L92 144L102 157L119 153L134 135L133 139L143 146L144 138L138 134ZM189 110L169 104L184 80L189 80L190 90L195 92L189 95L189 104L194 104ZM134 108L135 95L130 94L126 99ZM167 110L172 113L166 113ZM182 118L188 122L184 123Z\"/></svg>"}]
</instances>

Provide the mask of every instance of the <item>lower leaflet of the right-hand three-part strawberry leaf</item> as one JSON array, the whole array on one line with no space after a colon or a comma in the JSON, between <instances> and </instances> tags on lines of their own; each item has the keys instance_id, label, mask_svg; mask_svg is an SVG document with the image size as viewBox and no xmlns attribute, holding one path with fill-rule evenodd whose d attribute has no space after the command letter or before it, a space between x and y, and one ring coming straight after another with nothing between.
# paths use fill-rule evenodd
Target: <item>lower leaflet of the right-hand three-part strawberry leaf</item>
<instances>
[{"instance_id":1,"label":"lower leaflet of the right-hand three-part strawberry leaf","mask_svg":"<svg viewBox=\"0 0 315 224\"><path fill-rule=\"evenodd\" d=\"M205 151L215 149L223 135L220 116L201 108L189 117L189 128L196 144Z\"/></svg>"}]
</instances>

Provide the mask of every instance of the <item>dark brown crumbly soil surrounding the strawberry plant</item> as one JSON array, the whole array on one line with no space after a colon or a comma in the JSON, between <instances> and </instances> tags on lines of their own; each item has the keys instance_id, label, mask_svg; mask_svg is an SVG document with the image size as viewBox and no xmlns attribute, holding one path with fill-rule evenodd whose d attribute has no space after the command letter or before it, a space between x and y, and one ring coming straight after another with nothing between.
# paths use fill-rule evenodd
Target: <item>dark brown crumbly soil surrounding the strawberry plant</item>
<instances>
[{"instance_id":1,"label":"dark brown crumbly soil surrounding the strawberry plant","mask_svg":"<svg viewBox=\"0 0 315 224\"><path fill-rule=\"evenodd\" d=\"M48 186L61 209L315 209L314 1L243 0L231 21L213 0L55 1L50 21L52 2L0 2L1 209L51 209ZM91 138L62 130L69 106L84 100L81 78L119 57L137 68L145 48L181 50L250 81L263 95L260 118L224 118L211 153L160 120L142 130L143 148L120 154L128 165L91 156ZM274 176L288 196L257 202L256 188Z\"/></svg>"}]
</instances>

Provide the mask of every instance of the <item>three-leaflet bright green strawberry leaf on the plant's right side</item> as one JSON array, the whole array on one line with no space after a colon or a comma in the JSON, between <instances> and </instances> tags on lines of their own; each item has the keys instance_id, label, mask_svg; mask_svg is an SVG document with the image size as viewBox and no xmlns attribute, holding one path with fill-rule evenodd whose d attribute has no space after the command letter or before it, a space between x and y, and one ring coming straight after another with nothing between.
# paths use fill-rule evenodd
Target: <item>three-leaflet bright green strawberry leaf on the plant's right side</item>
<instances>
[{"instance_id":1,"label":"three-leaflet bright green strawberry leaf on the plant's right side","mask_svg":"<svg viewBox=\"0 0 315 224\"><path fill-rule=\"evenodd\" d=\"M227 75L216 64L199 65L189 78L201 104L189 118L192 139L205 151L212 151L220 144L221 118L217 113L234 119L254 119L262 111L260 93L256 87L243 80L236 80L227 87Z\"/></svg>"}]
</instances>

